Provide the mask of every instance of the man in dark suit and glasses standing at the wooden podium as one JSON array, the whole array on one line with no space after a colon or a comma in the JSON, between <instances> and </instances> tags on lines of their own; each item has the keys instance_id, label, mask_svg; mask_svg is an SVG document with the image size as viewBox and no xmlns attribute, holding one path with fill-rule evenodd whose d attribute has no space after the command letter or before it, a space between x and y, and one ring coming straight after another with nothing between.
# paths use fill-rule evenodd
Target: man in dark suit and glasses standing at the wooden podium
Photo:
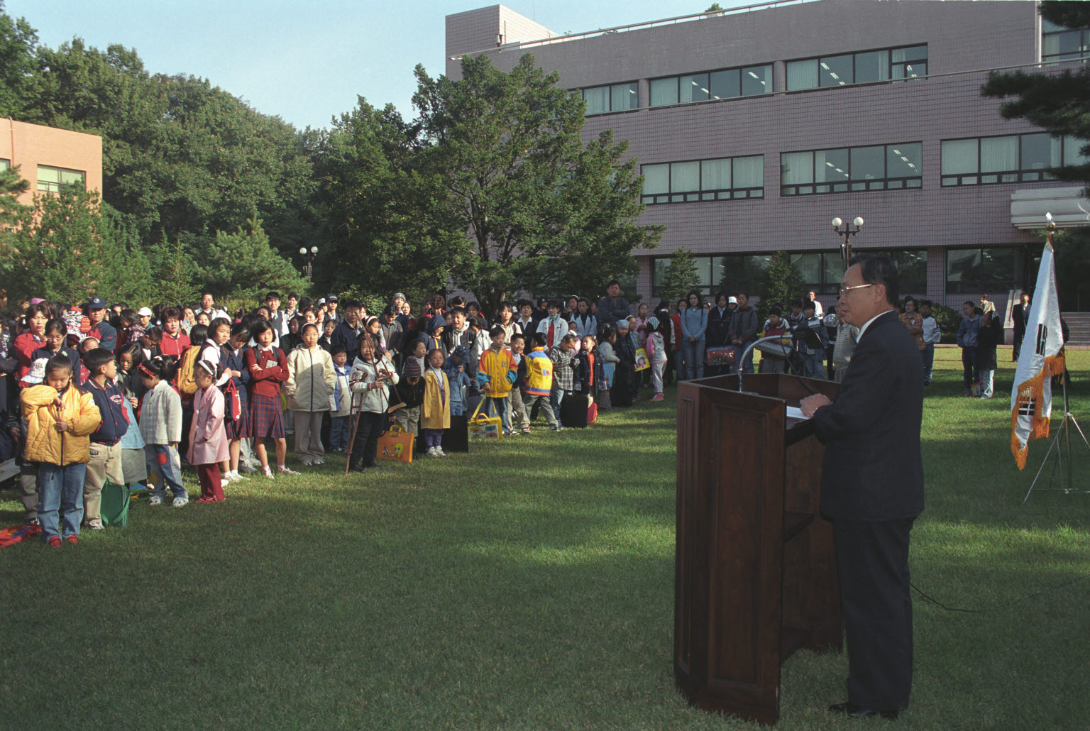
<instances>
[{"instance_id":1,"label":"man in dark suit and glasses standing at the wooden podium","mask_svg":"<svg viewBox=\"0 0 1090 731\"><path fill-rule=\"evenodd\" d=\"M923 382L916 342L897 318L897 269L857 256L837 312L860 329L835 402L802 400L825 443L822 512L833 521L848 637L848 699L829 710L895 718L912 684L908 543L923 510Z\"/></svg>"}]
</instances>

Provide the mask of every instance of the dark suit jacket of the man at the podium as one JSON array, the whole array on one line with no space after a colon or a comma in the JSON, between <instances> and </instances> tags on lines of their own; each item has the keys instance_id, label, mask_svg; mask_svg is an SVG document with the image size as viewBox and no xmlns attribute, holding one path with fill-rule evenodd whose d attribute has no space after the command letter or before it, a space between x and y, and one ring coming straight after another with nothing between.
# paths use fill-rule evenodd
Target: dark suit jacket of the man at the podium
<instances>
[{"instance_id":1,"label":"dark suit jacket of the man at the podium","mask_svg":"<svg viewBox=\"0 0 1090 731\"><path fill-rule=\"evenodd\" d=\"M825 444L822 512L855 521L919 515L922 416L920 352L891 310L863 332L836 401L813 416Z\"/></svg>"}]
</instances>

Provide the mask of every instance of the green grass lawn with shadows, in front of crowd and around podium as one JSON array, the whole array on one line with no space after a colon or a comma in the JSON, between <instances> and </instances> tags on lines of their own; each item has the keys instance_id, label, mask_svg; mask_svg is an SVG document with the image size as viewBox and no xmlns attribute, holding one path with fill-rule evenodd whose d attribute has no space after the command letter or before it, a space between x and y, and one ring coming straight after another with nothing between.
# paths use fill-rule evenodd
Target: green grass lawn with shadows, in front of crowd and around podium
<instances>
[{"instance_id":1,"label":"green grass lawn with shadows, in front of crowd and around podium","mask_svg":"<svg viewBox=\"0 0 1090 731\"><path fill-rule=\"evenodd\" d=\"M882 728L1087 729L1090 495L1022 498L1010 351L961 399L940 349L913 531L911 708ZM1090 427L1090 352L1069 356ZM675 392L467 455L133 505L77 547L0 551L7 728L737 729L674 687ZM1056 410L1059 411L1058 409ZM1058 424L1058 418L1054 419ZM292 463L289 459L289 464ZM1090 453L1076 482L1090 487ZM196 494L195 476L186 473ZM0 494L0 524L22 517ZM1038 596L1031 596L1041 593ZM784 666L783 729L852 726L847 659ZM867 722L861 722L865 724Z\"/></svg>"}]
</instances>

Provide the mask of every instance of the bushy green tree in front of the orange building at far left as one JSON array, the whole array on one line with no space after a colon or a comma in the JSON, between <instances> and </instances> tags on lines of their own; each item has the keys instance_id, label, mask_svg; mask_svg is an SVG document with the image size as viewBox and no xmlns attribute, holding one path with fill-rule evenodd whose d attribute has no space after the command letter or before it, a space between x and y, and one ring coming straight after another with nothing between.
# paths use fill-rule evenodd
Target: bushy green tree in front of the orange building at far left
<instances>
[{"instance_id":1,"label":"bushy green tree in front of the orange building at far left","mask_svg":"<svg viewBox=\"0 0 1090 731\"><path fill-rule=\"evenodd\" d=\"M98 195L82 185L34 197L10 252L11 291L69 304L88 294L142 301L152 291L147 258L125 245L125 233Z\"/></svg>"}]
</instances>

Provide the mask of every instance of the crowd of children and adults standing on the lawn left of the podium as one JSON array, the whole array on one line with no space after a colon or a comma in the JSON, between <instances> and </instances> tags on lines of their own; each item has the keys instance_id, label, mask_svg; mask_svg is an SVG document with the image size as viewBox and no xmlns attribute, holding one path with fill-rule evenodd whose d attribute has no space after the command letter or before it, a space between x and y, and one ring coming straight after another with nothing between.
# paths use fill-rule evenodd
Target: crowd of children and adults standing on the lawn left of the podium
<instances>
[{"instance_id":1,"label":"crowd of children and adults standing on the lawn left of the podium","mask_svg":"<svg viewBox=\"0 0 1090 731\"><path fill-rule=\"evenodd\" d=\"M327 450L350 453L351 470L374 467L391 422L420 453L441 458L444 436L464 434L471 414L498 417L508 437L530 434L536 418L560 430L631 405L642 388L662 401L675 376L752 373L743 354L762 336L794 338L794 367L823 377L829 336L813 300L791 302L786 316L774 306L759 327L744 293L704 304L693 292L676 312L662 302L633 315L616 281L608 292L600 302L502 303L493 321L475 302L441 294L416 317L401 294L368 313L335 295L290 294L281 308L269 292L233 316L210 294L199 306L140 309L108 309L98 296L82 306L33 301L0 339L9 426L0 461L25 458L26 520L59 545L77 541L81 523L102 527L107 479L150 483L149 504L180 508L190 501L187 463L196 502L219 502L225 484L250 474L299 474L286 464L292 435L304 467L323 464ZM705 367L710 349L735 357ZM787 363L766 352L761 368L783 373Z\"/></svg>"}]
</instances>

